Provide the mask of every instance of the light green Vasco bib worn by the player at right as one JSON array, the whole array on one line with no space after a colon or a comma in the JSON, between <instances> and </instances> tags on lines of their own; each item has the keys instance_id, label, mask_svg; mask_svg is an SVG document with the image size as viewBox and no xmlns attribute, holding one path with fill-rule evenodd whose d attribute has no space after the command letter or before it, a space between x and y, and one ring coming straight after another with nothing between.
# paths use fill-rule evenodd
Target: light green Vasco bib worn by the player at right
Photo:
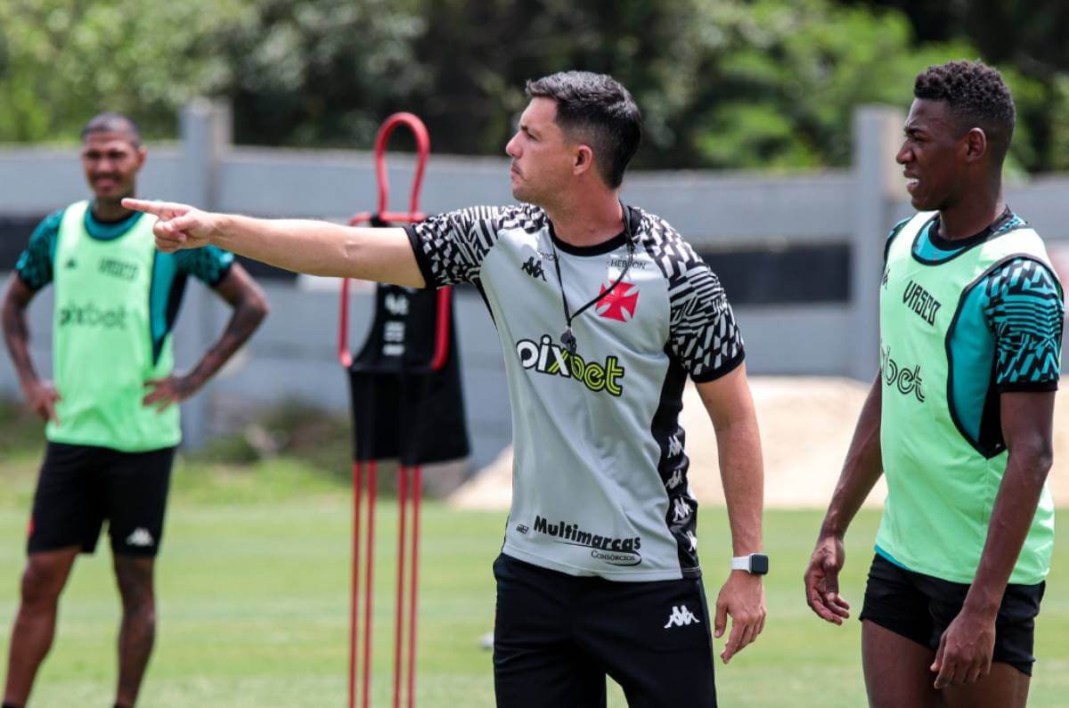
<instances>
[{"instance_id":1,"label":"light green Vasco bib worn by the player at right","mask_svg":"<svg viewBox=\"0 0 1069 708\"><path fill-rule=\"evenodd\" d=\"M955 368L949 341L974 286L1014 258L1048 266L1050 261L1038 234L1022 228L943 262L925 262L913 246L932 218L918 214L894 237L880 287L880 446L887 501L877 551L909 570L972 583L1008 453L981 450L966 434L954 410L954 376L991 371ZM1053 545L1054 505L1044 486L1010 582L1042 581Z\"/></svg>"}]
</instances>

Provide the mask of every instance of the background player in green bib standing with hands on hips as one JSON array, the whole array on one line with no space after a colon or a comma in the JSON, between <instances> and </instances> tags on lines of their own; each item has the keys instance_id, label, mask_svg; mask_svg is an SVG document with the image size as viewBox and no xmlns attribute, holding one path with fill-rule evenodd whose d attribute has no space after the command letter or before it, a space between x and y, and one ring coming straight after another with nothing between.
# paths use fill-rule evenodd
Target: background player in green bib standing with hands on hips
<instances>
[{"instance_id":1,"label":"background player in green bib standing with hands on hips","mask_svg":"<svg viewBox=\"0 0 1069 708\"><path fill-rule=\"evenodd\" d=\"M4 340L48 438L12 628L5 708L26 705L75 557L93 552L105 520L123 602L115 705L134 705L155 637L153 566L181 440L176 404L219 370L267 312L262 291L230 253L156 251L155 219L120 203L135 194L146 155L129 118L93 118L81 150L93 199L37 227L4 295ZM234 311L192 371L176 375L170 332L190 275ZM26 320L30 301L48 283L56 292L55 386L36 374Z\"/></svg>"}]
</instances>

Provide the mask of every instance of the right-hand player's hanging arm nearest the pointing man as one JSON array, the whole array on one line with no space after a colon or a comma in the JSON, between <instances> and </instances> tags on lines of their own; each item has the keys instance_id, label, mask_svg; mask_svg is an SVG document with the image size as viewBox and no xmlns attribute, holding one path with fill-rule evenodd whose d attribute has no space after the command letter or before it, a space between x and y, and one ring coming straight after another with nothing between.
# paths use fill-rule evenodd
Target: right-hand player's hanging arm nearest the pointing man
<instances>
[{"instance_id":1,"label":"right-hand player's hanging arm nearest the pointing man","mask_svg":"<svg viewBox=\"0 0 1069 708\"><path fill-rule=\"evenodd\" d=\"M805 572L806 603L818 617L835 625L841 625L850 616L850 603L839 596L839 571L846 561L842 539L850 522L883 474L880 458L882 384L877 374L857 417L839 482L835 486L824 523L820 526L817 548Z\"/></svg>"}]
</instances>

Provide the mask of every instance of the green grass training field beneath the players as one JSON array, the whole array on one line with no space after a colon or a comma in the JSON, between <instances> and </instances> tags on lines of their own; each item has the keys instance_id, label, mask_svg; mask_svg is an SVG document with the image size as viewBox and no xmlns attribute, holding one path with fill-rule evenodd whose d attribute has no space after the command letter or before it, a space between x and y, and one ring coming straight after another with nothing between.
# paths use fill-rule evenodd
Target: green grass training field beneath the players
<instances>
[{"instance_id":1,"label":"green grass training field beneath the players","mask_svg":"<svg viewBox=\"0 0 1069 708\"><path fill-rule=\"evenodd\" d=\"M0 464L0 636L24 561L24 528L36 458ZM159 632L140 703L144 708L331 707L346 703L350 497L323 475L277 461L223 470L176 470L159 561ZM857 607L878 517L862 514L851 533L843 594ZM758 643L717 665L724 706L854 708L865 705L859 626L835 628L805 606L802 572L820 514L773 511L769 622ZM491 563L503 513L453 511L429 504L422 518L418 704L423 708L493 705L491 653L479 637L492 627ZM396 514L379 508L378 629L374 705L390 705ZM723 509L701 512L708 590L715 597L729 555ZM34 692L34 708L110 705L119 616L106 539L82 557L63 598L60 629ZM1069 548L1063 544L1038 624L1032 706L1064 706L1069 695ZM717 642L717 646L722 644ZM622 707L618 690L610 706Z\"/></svg>"}]
</instances>

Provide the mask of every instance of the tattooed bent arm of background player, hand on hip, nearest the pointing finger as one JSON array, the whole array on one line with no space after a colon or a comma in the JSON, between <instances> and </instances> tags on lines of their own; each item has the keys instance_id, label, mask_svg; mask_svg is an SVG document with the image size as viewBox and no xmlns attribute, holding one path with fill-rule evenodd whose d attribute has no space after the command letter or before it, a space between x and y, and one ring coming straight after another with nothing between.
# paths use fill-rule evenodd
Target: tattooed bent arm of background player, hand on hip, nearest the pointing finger
<instances>
[{"instance_id":1,"label":"tattooed bent arm of background player, hand on hip, nearest the pointing finger","mask_svg":"<svg viewBox=\"0 0 1069 708\"><path fill-rule=\"evenodd\" d=\"M145 405L155 405L164 411L196 394L248 341L267 315L267 298L263 290L239 263L230 266L230 272L216 286L215 292L234 310L222 337L186 375L146 382L149 393L142 401Z\"/></svg>"}]
</instances>

